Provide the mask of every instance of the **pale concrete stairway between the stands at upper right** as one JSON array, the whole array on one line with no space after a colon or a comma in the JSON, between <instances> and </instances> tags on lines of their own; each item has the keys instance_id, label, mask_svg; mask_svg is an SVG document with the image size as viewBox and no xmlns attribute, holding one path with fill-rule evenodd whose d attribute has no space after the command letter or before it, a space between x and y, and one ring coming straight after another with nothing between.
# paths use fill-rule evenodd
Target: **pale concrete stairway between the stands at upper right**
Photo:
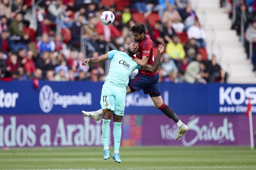
<instances>
[{"instance_id":1,"label":"pale concrete stairway between the stands at upper right","mask_svg":"<svg viewBox=\"0 0 256 170\"><path fill-rule=\"evenodd\" d=\"M231 20L219 0L192 0L197 4L196 13L201 23L205 23L206 44L209 59L216 54L223 69L229 72L228 83L256 83L256 74L236 31L230 30ZM212 41L214 40L214 41ZM213 45L211 42L214 42Z\"/></svg>"}]
</instances>

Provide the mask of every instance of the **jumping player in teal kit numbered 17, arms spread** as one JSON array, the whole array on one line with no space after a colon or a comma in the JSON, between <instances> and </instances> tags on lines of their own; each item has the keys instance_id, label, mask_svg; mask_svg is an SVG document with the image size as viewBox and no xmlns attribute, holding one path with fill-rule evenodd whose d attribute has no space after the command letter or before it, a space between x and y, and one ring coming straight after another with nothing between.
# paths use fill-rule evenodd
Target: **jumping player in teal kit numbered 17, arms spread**
<instances>
[{"instance_id":1,"label":"jumping player in teal kit numbered 17, arms spread","mask_svg":"<svg viewBox=\"0 0 256 170\"><path fill-rule=\"evenodd\" d=\"M121 163L119 147L121 142L121 124L124 116L126 86L129 82L129 75L135 70L140 69L147 72L156 72L161 59L161 54L164 51L165 44L161 43L158 46L158 55L154 64L141 67L136 63L138 58L133 55L140 49L140 44L136 41L132 42L127 51L112 50L99 57L87 58L83 60L82 65L86 63L96 64L102 61L111 59L109 74L106 77L105 83L101 91L101 109L102 117L102 138L104 143L103 159L109 159L110 151L108 147L109 124L113 115L113 136L114 136L114 154L112 159L115 162Z\"/></svg>"}]
</instances>

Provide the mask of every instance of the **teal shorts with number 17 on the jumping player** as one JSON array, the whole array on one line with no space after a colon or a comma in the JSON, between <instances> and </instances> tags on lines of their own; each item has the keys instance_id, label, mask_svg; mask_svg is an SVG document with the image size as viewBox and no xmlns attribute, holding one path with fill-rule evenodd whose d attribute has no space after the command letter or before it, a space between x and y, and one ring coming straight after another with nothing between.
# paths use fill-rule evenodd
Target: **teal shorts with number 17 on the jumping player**
<instances>
[{"instance_id":1,"label":"teal shorts with number 17 on the jumping player","mask_svg":"<svg viewBox=\"0 0 256 170\"><path fill-rule=\"evenodd\" d=\"M119 116L124 116L126 88L104 84L101 90L101 109L110 109Z\"/></svg>"}]
</instances>

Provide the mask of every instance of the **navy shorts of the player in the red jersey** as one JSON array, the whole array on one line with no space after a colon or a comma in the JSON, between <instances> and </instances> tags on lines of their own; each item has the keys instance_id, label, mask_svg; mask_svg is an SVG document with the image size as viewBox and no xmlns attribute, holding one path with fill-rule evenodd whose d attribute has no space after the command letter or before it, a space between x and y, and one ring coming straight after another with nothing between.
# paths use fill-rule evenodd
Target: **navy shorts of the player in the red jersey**
<instances>
[{"instance_id":1,"label":"navy shorts of the player in the red jersey","mask_svg":"<svg viewBox=\"0 0 256 170\"><path fill-rule=\"evenodd\" d=\"M133 78L129 80L129 88L131 93L135 91L143 90L144 94L149 94L150 97L161 96L161 92L158 86L159 74L155 76L146 76L138 73Z\"/></svg>"}]
</instances>

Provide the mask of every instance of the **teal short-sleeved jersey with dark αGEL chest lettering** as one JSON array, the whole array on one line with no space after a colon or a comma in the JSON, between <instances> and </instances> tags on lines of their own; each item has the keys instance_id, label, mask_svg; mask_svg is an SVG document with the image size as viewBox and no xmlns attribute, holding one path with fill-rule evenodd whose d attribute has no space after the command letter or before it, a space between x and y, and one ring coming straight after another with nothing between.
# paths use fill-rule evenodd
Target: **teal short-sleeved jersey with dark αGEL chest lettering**
<instances>
[{"instance_id":1,"label":"teal short-sleeved jersey with dark \u03b1GEL chest lettering","mask_svg":"<svg viewBox=\"0 0 256 170\"><path fill-rule=\"evenodd\" d=\"M111 82L118 87L126 87L129 82L129 76L135 69L141 68L132 57L122 51L112 50L108 52L108 58L111 59L109 74L106 77L106 83Z\"/></svg>"}]
</instances>

